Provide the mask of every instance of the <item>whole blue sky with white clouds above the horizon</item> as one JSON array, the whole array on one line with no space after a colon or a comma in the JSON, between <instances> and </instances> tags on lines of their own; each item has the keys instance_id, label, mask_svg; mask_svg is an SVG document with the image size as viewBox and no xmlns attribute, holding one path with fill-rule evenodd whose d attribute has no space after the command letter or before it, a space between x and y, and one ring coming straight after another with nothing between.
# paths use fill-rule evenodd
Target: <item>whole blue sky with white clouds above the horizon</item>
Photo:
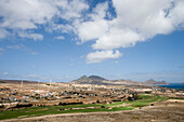
<instances>
[{"instance_id":1,"label":"whole blue sky with white clouds above the horizon","mask_svg":"<svg viewBox=\"0 0 184 122\"><path fill-rule=\"evenodd\" d=\"M184 0L0 0L0 79L184 82Z\"/></svg>"}]
</instances>

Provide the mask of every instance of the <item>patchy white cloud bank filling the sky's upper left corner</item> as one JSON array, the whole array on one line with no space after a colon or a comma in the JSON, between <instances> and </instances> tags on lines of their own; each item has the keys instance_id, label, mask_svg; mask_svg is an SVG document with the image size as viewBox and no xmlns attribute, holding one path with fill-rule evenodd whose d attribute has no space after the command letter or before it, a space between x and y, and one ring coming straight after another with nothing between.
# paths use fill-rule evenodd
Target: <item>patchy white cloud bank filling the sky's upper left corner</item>
<instances>
[{"instance_id":1,"label":"patchy white cloud bank filling the sky's upper left corner","mask_svg":"<svg viewBox=\"0 0 184 122\"><path fill-rule=\"evenodd\" d=\"M80 17L88 9L83 0L1 0L0 1L0 38L6 36L6 29L14 31L39 29L52 23L54 17L70 21ZM42 40L40 33L18 33L22 38Z\"/></svg>"}]
</instances>

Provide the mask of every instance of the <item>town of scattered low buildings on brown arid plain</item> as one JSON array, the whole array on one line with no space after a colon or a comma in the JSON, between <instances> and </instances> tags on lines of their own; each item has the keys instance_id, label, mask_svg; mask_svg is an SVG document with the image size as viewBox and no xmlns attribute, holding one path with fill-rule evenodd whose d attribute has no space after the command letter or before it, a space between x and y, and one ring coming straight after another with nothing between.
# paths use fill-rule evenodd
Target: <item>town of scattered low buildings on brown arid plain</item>
<instances>
[{"instance_id":1,"label":"town of scattered low buildings on brown arid plain","mask_svg":"<svg viewBox=\"0 0 184 122\"><path fill-rule=\"evenodd\" d=\"M140 94L184 98L184 91L146 85L103 85L66 83L1 83L0 111L34 106L111 104L136 100Z\"/></svg>"}]
</instances>

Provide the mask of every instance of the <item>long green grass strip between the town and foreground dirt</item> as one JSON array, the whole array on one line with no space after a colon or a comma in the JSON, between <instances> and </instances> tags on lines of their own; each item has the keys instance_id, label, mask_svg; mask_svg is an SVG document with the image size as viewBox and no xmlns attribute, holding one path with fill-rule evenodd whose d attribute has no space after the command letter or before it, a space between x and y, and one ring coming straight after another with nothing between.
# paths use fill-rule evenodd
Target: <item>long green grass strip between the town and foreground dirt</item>
<instances>
[{"instance_id":1,"label":"long green grass strip between the town and foreground dirt","mask_svg":"<svg viewBox=\"0 0 184 122\"><path fill-rule=\"evenodd\" d=\"M13 119L13 118L27 118L27 117L39 117L43 114L57 114L57 113L75 113L75 112L97 112L97 111L118 111L118 110L132 110L136 107L147 106L150 103L166 100L167 97L153 96L153 95L141 95L141 99L134 101L118 101L108 105L101 104L88 104L88 105L68 105L68 106L49 106L49 107L30 107L17 110L8 110L0 112L0 120ZM115 107L122 104L129 104L127 107ZM104 106L104 107L102 107ZM114 106L114 107L111 107ZM87 107L95 107L89 109ZM84 109L69 109L69 108L84 108ZM61 110L65 109L65 110Z\"/></svg>"}]
</instances>

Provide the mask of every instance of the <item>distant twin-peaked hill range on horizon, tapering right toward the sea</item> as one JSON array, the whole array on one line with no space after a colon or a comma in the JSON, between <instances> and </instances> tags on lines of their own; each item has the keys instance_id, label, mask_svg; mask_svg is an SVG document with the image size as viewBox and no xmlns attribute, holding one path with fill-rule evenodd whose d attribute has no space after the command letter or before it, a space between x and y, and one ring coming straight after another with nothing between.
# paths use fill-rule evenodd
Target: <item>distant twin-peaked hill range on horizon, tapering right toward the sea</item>
<instances>
[{"instance_id":1,"label":"distant twin-peaked hill range on horizon, tapering right toward the sea","mask_svg":"<svg viewBox=\"0 0 184 122\"><path fill-rule=\"evenodd\" d=\"M132 80L107 80L98 76L82 76L81 78L71 81L76 84L104 84L104 85L166 85L166 81L155 81L153 79L145 82L137 82Z\"/></svg>"}]
</instances>

